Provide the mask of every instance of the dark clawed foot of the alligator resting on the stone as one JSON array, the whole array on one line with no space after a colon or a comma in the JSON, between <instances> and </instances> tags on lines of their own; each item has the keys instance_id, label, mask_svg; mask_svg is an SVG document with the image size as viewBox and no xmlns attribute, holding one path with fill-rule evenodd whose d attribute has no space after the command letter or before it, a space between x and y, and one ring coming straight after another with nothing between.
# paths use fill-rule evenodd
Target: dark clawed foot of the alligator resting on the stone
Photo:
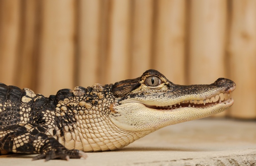
<instances>
[{"instance_id":1,"label":"dark clawed foot of the alligator resting on the stone","mask_svg":"<svg viewBox=\"0 0 256 166\"><path fill-rule=\"evenodd\" d=\"M68 149L53 149L49 150L46 153L39 154L35 156L33 160L45 159L45 161L51 159L61 159L61 160L69 160L69 159L80 159L86 158L87 155L83 151L79 150L68 150Z\"/></svg>"}]
</instances>

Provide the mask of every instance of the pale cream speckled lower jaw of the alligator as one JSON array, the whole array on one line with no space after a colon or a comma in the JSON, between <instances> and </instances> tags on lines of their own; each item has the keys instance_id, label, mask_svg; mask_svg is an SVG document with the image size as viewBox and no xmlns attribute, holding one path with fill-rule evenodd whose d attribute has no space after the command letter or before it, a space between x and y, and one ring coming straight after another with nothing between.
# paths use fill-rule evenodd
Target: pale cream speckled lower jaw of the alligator
<instances>
[{"instance_id":1,"label":"pale cream speckled lower jaw of the alligator","mask_svg":"<svg viewBox=\"0 0 256 166\"><path fill-rule=\"evenodd\" d=\"M233 100L208 108L182 107L176 110L155 110L141 103L132 102L116 106L116 113L110 115L110 120L120 129L133 132L148 131L215 115L232 105Z\"/></svg>"}]
</instances>

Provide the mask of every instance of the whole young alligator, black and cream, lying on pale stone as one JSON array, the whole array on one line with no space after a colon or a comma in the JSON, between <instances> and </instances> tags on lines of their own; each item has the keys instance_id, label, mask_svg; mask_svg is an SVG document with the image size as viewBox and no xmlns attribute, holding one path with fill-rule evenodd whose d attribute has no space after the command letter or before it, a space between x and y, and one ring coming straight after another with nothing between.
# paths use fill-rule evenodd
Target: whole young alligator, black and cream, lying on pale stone
<instances>
[{"instance_id":1,"label":"whole young alligator, black and cream, lying on pale stone","mask_svg":"<svg viewBox=\"0 0 256 166\"><path fill-rule=\"evenodd\" d=\"M162 127L208 117L233 105L236 84L177 85L156 70L115 84L62 89L48 98L0 84L0 154L33 160L86 158L120 149Z\"/></svg>"}]
</instances>

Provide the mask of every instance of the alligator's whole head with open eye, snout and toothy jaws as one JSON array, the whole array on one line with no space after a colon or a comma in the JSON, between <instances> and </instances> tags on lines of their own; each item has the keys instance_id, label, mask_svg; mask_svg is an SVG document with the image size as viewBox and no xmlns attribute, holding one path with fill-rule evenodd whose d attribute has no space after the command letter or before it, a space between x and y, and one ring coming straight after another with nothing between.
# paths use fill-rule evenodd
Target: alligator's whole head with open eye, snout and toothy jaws
<instances>
[{"instance_id":1,"label":"alligator's whole head with open eye, snout and toothy jaws","mask_svg":"<svg viewBox=\"0 0 256 166\"><path fill-rule=\"evenodd\" d=\"M209 85L176 85L156 70L114 84L111 122L126 131L149 131L208 117L233 105L236 84L218 78Z\"/></svg>"}]
</instances>

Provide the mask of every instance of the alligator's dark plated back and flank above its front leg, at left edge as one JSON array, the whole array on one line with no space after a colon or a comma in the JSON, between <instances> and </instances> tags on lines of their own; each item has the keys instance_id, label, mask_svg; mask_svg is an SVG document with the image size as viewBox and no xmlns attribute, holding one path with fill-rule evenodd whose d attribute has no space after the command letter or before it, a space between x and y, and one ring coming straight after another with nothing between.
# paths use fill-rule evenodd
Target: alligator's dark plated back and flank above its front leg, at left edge
<instances>
[{"instance_id":1,"label":"alligator's dark plated back and flank above its front leg, at left edge","mask_svg":"<svg viewBox=\"0 0 256 166\"><path fill-rule=\"evenodd\" d=\"M19 123L35 123L38 109L48 103L48 98L32 90L0 83L0 129Z\"/></svg>"}]
</instances>

